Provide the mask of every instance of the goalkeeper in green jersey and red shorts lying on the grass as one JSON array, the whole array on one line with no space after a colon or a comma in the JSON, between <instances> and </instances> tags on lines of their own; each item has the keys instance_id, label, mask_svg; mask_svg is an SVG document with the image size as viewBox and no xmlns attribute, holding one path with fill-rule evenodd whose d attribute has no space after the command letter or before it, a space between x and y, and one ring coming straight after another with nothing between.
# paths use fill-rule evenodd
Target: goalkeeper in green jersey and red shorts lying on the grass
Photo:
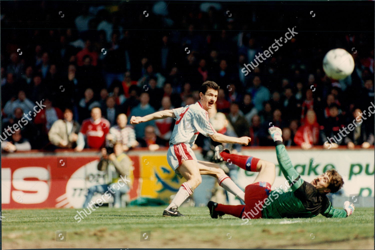
<instances>
[{"instance_id":1,"label":"goalkeeper in green jersey and red shorts lying on the grass","mask_svg":"<svg viewBox=\"0 0 375 250\"><path fill-rule=\"evenodd\" d=\"M326 217L344 218L354 212L354 205L344 203L344 209L332 208L327 193L336 193L344 181L341 175L332 169L318 176L310 183L304 181L294 169L282 144L281 129L269 128L276 143L276 155L281 171L287 179L291 191L271 190L275 181L275 164L252 156L230 154L217 146L214 155L216 161L231 161L233 164L251 172L259 172L253 184L245 188L245 205L223 205L208 202L211 218L230 214L243 220L257 218L310 218L318 214Z\"/></svg>"}]
</instances>

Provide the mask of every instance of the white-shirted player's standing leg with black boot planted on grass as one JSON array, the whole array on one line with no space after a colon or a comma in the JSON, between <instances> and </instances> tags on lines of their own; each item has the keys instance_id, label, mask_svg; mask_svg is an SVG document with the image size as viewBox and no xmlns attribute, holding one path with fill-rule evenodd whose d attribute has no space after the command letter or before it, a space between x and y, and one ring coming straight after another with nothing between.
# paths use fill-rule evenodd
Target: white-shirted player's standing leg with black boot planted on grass
<instances>
[{"instance_id":1,"label":"white-shirted player's standing leg with black boot planted on grass","mask_svg":"<svg viewBox=\"0 0 375 250\"><path fill-rule=\"evenodd\" d=\"M202 176L199 173L198 163L196 160L184 160L176 169L185 179L177 194L174 196L172 202L164 210L163 216L183 216L177 208L189 197L194 189L202 182Z\"/></svg>"}]
</instances>

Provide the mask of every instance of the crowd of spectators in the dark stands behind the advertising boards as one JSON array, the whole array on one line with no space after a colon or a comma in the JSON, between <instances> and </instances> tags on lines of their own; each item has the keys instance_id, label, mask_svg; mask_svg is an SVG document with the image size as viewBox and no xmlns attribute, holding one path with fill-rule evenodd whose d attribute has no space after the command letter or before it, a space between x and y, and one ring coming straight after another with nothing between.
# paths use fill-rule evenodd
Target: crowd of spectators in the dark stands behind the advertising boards
<instances>
[{"instance_id":1,"label":"crowd of spectators in the dark stands behind the advertising boards","mask_svg":"<svg viewBox=\"0 0 375 250\"><path fill-rule=\"evenodd\" d=\"M130 117L193 104L205 80L219 84L216 110L236 136L252 138L249 146L273 145L267 133L273 125L282 128L287 146L309 149L328 138L348 148L374 145L371 33L337 33L332 40L341 42L324 48L297 35L245 76L244 63L275 36L246 31L245 23L262 27L261 17L244 21L233 11L228 18L217 3L195 4L177 15L168 8L180 7L163 3L150 6L148 19L142 11L130 18L126 4L83 4L66 10L64 20L70 21L64 27L51 29L34 26L31 14L3 13L2 28L19 21L27 29L2 29L2 150L99 150L118 141L124 151L168 146L173 119L131 126ZM61 22L48 13L48 3L39 4L36 23ZM351 52L359 44L351 76L336 81L324 74L321 62L329 49ZM339 138L350 123L355 128ZM15 125L21 129L12 133Z\"/></svg>"}]
</instances>

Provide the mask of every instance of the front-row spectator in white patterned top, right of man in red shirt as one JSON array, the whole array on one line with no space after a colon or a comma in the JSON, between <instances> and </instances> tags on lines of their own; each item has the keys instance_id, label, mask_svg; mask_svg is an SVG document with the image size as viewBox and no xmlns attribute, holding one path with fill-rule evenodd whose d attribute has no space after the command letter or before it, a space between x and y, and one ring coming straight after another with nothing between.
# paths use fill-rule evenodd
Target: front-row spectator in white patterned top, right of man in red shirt
<instances>
[{"instance_id":1,"label":"front-row spectator in white patterned top, right of man in red shirt","mask_svg":"<svg viewBox=\"0 0 375 250\"><path fill-rule=\"evenodd\" d=\"M110 128L110 133L107 134L107 146L114 145L116 142L121 142L124 151L138 146L135 140L135 132L132 126L126 126L126 114L119 114L116 119L117 125Z\"/></svg>"}]
</instances>

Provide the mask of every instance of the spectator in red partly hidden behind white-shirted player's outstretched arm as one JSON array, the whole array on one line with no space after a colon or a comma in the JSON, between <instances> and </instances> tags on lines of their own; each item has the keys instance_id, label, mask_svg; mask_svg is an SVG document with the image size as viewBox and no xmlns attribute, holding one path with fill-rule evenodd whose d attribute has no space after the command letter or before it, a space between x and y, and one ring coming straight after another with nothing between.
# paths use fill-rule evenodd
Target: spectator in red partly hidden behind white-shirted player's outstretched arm
<instances>
[{"instance_id":1,"label":"spectator in red partly hidden behind white-shirted player's outstretched arm","mask_svg":"<svg viewBox=\"0 0 375 250\"><path fill-rule=\"evenodd\" d=\"M172 108L174 107L171 104L171 98L169 98L169 96L164 96L162 99L162 107L158 111L170 110ZM174 122L175 120L172 117L155 120L157 136L159 136L161 139L169 141L169 139L171 139Z\"/></svg>"}]
</instances>

